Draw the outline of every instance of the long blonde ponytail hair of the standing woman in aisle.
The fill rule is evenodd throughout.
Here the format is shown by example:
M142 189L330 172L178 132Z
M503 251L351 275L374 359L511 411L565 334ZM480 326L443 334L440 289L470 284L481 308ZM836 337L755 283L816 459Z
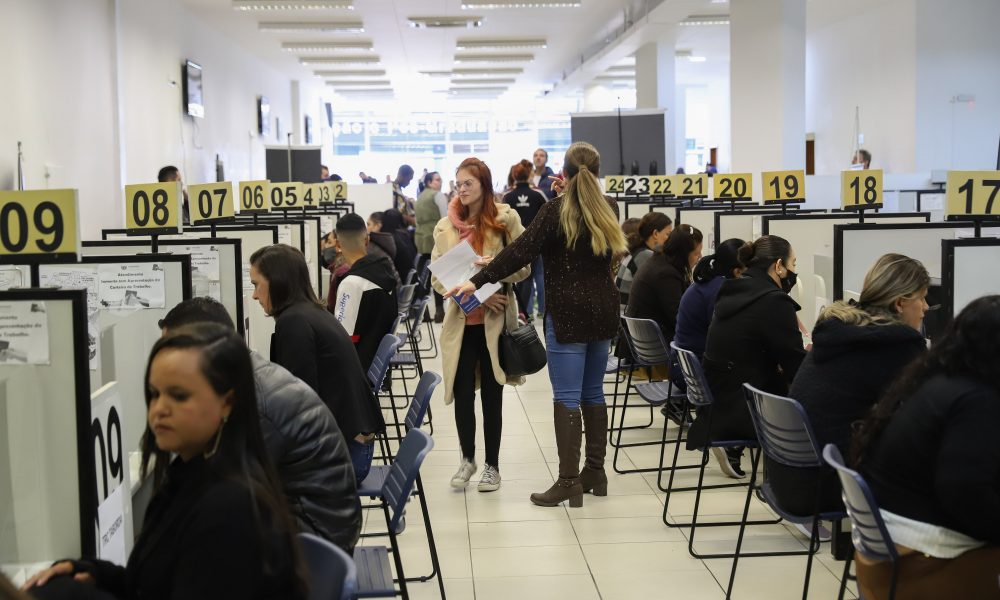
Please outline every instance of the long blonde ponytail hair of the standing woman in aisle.
M601 155L597 149L587 142L574 142L566 150L563 164L569 182L559 211L559 226L566 236L566 248L576 246L582 222L590 232L594 256L626 252L625 236L597 180L601 170Z

